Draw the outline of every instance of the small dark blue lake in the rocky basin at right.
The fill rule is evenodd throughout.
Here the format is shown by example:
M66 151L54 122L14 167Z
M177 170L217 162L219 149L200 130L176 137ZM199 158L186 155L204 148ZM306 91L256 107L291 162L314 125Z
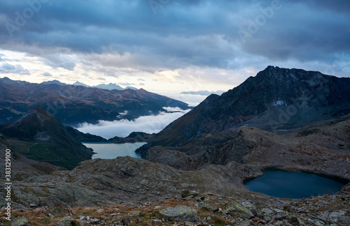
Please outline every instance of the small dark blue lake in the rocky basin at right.
M309 172L287 172L281 169L265 169L264 176L248 180L244 185L251 191L265 195L301 199L334 194L345 183Z

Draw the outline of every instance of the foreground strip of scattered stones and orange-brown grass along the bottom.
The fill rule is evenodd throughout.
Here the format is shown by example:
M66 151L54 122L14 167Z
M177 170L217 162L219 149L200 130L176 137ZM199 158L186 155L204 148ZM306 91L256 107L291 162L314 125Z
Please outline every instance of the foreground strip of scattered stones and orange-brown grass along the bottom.
M271 201L183 190L179 197L139 204L31 204L13 211L12 225L350 225L350 184L335 195ZM1 223L10 225L1 216Z

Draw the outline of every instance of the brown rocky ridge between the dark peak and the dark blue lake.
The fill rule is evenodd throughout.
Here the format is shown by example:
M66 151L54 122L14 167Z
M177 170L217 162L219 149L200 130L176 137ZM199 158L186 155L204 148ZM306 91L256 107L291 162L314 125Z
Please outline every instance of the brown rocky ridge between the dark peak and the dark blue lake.
M251 127L224 130L202 135L180 148L155 146L146 159L187 170L235 161L260 168L297 168L350 179L350 114L308 124L288 135Z

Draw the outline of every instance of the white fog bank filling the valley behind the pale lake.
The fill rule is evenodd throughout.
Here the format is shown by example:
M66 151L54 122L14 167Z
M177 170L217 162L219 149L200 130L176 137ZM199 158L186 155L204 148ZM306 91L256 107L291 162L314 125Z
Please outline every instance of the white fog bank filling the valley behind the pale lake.
M178 111L177 108L165 107L168 111ZM158 133L172 121L179 119L190 110L181 110L180 112L160 112L158 115L141 116L134 121L123 119L120 121L103 121L97 124L82 123L78 126L80 132L99 135L106 139L112 137L127 137L132 132Z

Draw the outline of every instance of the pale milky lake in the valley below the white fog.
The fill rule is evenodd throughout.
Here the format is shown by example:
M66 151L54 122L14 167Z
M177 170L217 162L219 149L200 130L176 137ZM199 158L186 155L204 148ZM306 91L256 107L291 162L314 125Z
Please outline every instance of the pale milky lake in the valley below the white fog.
M127 143L127 144L113 144L113 143L92 143L84 142L85 146L91 148L96 152L92 156L94 158L111 159L117 158L119 156L130 156L134 158L141 158L139 153L135 153L135 150L140 146L146 144L144 142L139 143Z

